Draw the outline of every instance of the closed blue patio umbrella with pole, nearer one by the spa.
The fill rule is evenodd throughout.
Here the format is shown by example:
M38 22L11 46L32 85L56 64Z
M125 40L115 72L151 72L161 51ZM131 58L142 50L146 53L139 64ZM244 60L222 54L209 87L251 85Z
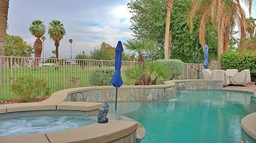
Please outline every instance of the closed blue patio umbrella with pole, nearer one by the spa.
M122 64L122 51L124 51L122 42L118 41L116 46L116 52L115 52L115 73L112 79L110 80L110 83L116 87L116 102L117 102L117 88L121 87L123 84L123 80L121 77L121 64ZM116 110L116 106L115 106Z

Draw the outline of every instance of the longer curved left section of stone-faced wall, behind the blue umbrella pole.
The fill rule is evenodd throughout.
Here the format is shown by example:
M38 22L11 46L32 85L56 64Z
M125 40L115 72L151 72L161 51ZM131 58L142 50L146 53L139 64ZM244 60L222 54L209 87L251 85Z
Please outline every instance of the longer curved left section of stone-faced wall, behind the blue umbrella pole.
M152 101L174 97L174 88L118 88L118 101ZM96 89L77 92L67 97L66 101L110 102L116 100L116 89Z

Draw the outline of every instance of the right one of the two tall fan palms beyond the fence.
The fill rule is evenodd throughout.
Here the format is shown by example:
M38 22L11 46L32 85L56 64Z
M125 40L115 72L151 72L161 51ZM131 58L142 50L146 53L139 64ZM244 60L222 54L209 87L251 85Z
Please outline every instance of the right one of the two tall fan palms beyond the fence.
M48 34L50 35L50 39L54 41L54 45L56 47L56 58L59 58L59 45L60 40L63 39L64 35L66 35L66 30L64 29L64 25L58 20L52 20L48 26ZM58 59L56 65L58 66Z

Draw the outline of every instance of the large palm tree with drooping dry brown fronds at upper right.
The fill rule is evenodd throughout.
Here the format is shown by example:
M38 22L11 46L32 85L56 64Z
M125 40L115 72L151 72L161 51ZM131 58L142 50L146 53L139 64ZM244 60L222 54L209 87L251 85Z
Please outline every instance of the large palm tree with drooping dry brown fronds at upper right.
M252 0L244 1L249 6L249 13L251 13ZM229 43L229 38L225 39L230 30L232 22L237 22L240 26L240 35L241 39L245 38L245 13L242 7L240 6L240 1L224 1L224 0L192 0L191 9L188 12L188 26L190 32L193 31L193 19L196 16L196 12L200 11L200 31L199 31L199 40L200 44L204 45L205 42L205 32L206 32L206 23L208 19L211 20L212 24L215 27L218 27L218 69L221 67L220 55L223 53L227 43ZM225 37L224 37L225 36ZM225 43L225 47L223 46ZM226 50L227 48L225 48Z

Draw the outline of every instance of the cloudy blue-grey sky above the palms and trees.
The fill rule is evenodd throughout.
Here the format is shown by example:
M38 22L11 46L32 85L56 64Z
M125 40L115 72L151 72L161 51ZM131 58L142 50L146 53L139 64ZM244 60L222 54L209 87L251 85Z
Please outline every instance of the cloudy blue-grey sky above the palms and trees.
M36 38L28 28L33 20L41 20L46 26L44 57L52 57L54 41L48 35L52 20L64 24L66 35L60 41L59 57L70 58L69 39L73 39L72 58L78 53L88 53L106 42L116 47L119 40L132 38L132 25L127 3L130 0L10 0L8 10L9 35L19 35L28 44L34 45ZM248 8L241 2L249 17ZM256 2L252 4L252 17L256 18ZM237 35L238 37L238 35ZM34 55L33 55L34 56ZM43 57L43 52L41 57Z

